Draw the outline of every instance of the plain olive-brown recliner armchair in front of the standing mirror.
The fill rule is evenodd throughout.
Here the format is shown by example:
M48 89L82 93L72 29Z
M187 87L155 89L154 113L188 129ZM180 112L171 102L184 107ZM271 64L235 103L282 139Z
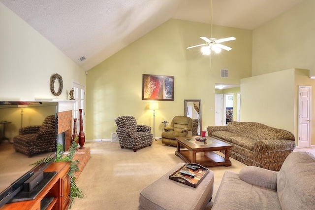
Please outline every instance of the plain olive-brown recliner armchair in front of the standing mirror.
M169 126L164 127L162 143L176 146L176 137L191 137L192 119L186 116L176 116Z

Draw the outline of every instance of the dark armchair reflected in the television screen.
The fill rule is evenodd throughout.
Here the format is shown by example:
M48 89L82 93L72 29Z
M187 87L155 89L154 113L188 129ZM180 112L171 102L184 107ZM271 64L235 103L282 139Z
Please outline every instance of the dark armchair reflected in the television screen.
M56 150L56 116L46 117L41 126L20 128L13 138L15 151L32 157L33 154Z

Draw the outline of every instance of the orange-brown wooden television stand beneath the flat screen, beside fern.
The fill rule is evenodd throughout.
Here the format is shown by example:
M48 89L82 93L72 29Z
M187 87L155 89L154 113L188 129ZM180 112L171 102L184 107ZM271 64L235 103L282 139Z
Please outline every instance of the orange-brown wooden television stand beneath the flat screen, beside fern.
M47 175L53 175L53 177L51 177L50 181L46 184L43 183L43 187L39 187L41 188L41 191L34 197L34 199L7 203L1 207L0 210L40 210L41 205L42 207L46 206L45 204L47 203L47 198L50 199L46 210L66 210L70 204L70 177L67 174L69 170L69 162L51 163L44 172L48 172ZM37 188L37 186L35 188ZM22 191L17 195L20 193L32 194L32 191Z

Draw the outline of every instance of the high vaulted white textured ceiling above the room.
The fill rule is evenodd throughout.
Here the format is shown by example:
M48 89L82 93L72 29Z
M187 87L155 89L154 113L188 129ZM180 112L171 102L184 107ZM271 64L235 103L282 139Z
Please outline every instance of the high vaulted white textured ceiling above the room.
M256 27L303 0L213 0L213 24ZM0 0L90 70L171 18L209 23L211 0ZM85 57L83 62L79 58Z

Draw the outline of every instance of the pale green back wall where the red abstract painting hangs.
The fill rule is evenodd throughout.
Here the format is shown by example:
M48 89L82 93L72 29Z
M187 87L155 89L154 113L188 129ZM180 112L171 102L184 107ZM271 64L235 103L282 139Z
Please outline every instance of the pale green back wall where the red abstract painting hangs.
M211 60L201 55L200 48L186 49L203 43L200 36L209 35L208 24L171 19L89 70L87 139L110 139L117 129L115 119L123 115L153 126L150 102L142 100L142 74L175 76L174 101L158 102L155 136L160 136L161 121L184 115L185 99L201 99L202 125L214 125L215 83L240 84L241 78L251 76L252 32L213 26L214 37L235 36L236 40L225 43L231 51L222 50ZM229 69L228 78L221 78L221 69Z

